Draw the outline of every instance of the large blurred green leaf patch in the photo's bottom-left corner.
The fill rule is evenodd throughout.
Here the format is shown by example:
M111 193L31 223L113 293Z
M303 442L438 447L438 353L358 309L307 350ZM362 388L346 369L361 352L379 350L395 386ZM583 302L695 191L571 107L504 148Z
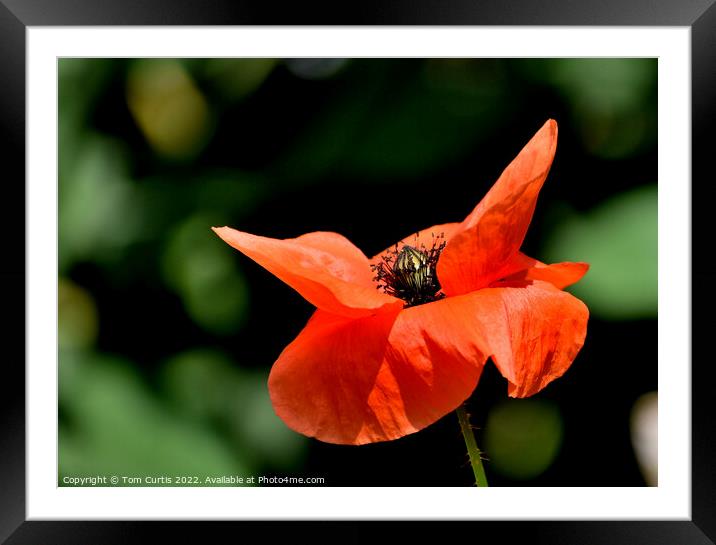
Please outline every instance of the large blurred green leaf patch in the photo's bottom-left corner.
M155 399L122 359L61 352L60 482L65 475L246 475L240 451Z

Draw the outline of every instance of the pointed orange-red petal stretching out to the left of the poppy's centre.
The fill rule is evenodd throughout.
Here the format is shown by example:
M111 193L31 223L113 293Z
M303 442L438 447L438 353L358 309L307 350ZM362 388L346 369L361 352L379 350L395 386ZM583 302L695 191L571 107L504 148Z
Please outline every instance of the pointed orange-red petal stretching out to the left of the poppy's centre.
M337 233L316 232L281 240L230 227L213 229L224 242L318 308L341 316L360 317L397 311L403 306L400 299L376 289L368 258Z

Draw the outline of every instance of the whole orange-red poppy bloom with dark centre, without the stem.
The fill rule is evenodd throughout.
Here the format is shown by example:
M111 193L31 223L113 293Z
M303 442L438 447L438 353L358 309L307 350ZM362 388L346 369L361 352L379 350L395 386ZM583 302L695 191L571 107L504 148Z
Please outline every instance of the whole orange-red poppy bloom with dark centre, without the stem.
M372 259L336 233L278 240L214 228L317 307L268 380L289 427L330 443L396 439L456 409L488 357L512 397L569 368L589 313L562 288L588 265L519 251L556 145L549 120L462 223Z

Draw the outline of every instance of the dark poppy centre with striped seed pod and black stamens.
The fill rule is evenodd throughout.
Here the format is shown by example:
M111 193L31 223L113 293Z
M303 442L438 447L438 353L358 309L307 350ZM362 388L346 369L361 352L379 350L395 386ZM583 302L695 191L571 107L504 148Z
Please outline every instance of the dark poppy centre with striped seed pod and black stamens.
M377 288L402 299L406 307L442 299L445 294L439 293L440 282L435 269L445 244L443 233L433 235L433 244L429 249L424 244L417 244L417 235L415 246L403 244L398 250L396 244L395 249L380 257L380 263L371 265L376 273L373 280L378 283Z

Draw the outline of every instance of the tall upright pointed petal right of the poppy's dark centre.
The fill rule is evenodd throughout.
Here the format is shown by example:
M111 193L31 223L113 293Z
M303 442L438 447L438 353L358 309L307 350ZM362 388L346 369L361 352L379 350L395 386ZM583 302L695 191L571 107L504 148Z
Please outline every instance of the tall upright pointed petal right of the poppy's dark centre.
M557 123L550 119L462 222L437 266L447 295L469 293L504 276L525 238L556 147Z

